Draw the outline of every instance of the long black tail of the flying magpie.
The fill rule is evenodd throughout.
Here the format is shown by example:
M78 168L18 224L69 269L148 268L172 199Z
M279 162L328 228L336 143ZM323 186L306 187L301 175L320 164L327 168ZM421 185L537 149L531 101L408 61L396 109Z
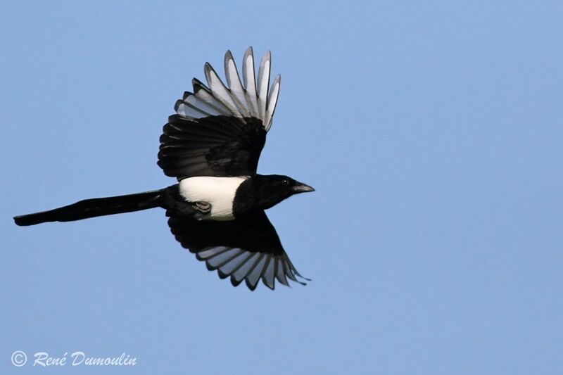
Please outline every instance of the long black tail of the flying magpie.
M18 225L34 225L42 222L72 222L89 217L147 210L160 206L159 198L164 190L146 191L127 196L86 199L50 211L16 216L13 220Z

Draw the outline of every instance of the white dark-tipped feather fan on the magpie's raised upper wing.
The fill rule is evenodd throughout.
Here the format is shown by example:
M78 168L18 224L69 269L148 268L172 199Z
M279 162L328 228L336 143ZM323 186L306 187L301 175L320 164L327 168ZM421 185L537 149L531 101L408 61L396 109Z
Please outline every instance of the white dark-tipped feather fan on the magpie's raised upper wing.
M281 76L274 78L270 87L272 57L267 51L260 61L258 76L254 72L254 55L248 47L243 58L242 82L231 51L224 55L224 71L227 86L209 63L205 63L205 79L208 86L192 80L194 93L186 91L184 98L176 102L175 110L182 117L202 118L216 115L255 117L262 121L266 131L272 126L272 116L279 96Z

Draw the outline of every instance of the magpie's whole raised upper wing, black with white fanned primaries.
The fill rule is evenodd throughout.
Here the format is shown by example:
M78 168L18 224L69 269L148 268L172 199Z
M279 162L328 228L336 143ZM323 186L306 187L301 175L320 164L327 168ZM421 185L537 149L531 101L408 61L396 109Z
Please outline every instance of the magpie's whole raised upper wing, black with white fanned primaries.
M192 81L194 93L176 102L160 136L158 165L167 176L239 176L256 173L266 133L279 94L279 75L270 85L270 52L260 62L255 79L249 48L243 59L243 83L230 51L224 56L228 87L205 63L208 87Z

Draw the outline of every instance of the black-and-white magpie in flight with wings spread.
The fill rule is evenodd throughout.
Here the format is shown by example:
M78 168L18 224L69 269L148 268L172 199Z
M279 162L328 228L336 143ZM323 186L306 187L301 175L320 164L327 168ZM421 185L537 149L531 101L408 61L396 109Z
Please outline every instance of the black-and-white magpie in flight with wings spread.
M224 56L225 85L209 63L207 85L194 78L175 104L160 136L158 165L177 184L125 196L92 198L54 210L14 217L21 226L69 222L123 212L163 208L170 231L182 247L233 286L253 291L260 279L305 285L289 260L265 210L298 193L315 191L290 177L256 172L272 126L280 75L270 86L267 51L255 75L252 47L241 76L232 53ZM305 280L305 281L304 281Z

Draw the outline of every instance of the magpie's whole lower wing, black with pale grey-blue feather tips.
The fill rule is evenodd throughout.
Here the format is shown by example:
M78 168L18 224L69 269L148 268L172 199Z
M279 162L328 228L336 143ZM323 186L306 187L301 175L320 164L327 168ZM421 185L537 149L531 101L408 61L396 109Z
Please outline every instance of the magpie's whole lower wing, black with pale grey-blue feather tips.
M305 285L264 211L225 222L172 216L168 225L184 248L210 271L217 269L221 279L230 276L234 286L244 280L253 291L262 279L274 289L275 279L288 286L287 278Z

